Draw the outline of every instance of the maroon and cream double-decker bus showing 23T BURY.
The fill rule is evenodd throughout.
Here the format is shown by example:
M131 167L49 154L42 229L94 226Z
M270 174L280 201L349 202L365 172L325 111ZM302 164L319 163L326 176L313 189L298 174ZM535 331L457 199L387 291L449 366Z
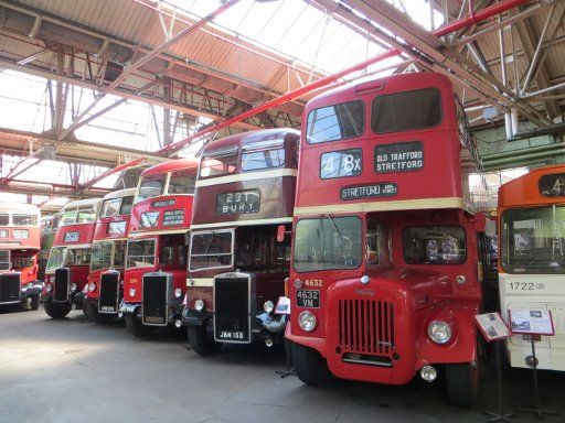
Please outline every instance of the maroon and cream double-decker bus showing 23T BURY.
M282 340L275 314L290 262L298 141L292 129L241 133L205 147L191 225L189 343L207 355L222 343L270 347Z

